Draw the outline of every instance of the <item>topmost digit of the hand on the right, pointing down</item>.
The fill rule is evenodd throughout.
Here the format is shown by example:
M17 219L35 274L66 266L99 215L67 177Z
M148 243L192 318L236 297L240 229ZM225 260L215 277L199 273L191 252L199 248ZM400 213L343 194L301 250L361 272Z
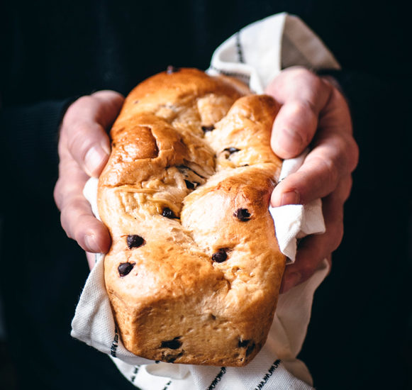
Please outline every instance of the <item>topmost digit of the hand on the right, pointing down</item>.
M318 116L333 87L307 69L288 69L269 84L267 93L283 104L272 128L271 145L282 158L296 157L311 143Z

